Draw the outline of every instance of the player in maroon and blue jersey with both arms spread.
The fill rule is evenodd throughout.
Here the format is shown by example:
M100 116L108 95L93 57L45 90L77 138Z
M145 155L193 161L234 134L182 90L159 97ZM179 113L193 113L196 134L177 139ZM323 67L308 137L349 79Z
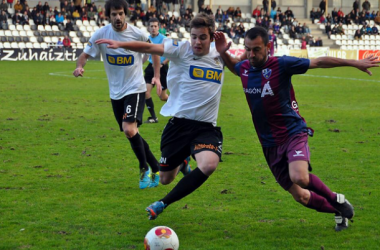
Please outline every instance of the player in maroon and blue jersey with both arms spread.
M336 231L346 229L348 220L354 216L353 206L343 194L332 192L316 175L309 173L310 130L292 106L295 99L291 77L304 74L308 69L342 66L355 67L372 75L368 68L379 66L377 58L269 57L268 33L255 27L244 38L248 59L239 61L226 53L230 44L226 43L223 34L216 33L215 38L216 49L227 67L241 78L264 156L277 182L302 205L335 214Z

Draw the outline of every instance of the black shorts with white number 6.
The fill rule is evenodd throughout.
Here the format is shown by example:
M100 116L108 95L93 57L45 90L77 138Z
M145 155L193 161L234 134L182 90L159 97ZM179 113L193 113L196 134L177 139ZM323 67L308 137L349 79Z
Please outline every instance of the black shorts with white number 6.
M119 124L120 131L123 131L123 122L137 122L137 126L142 123L145 106L145 92L130 94L120 100L111 99L113 114Z

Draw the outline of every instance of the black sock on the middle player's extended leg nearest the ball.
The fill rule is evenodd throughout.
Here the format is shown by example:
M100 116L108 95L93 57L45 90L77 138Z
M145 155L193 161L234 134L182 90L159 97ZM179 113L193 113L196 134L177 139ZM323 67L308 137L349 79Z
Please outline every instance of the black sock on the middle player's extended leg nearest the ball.
M190 174L183 177L177 185L173 188L170 193L168 193L162 201L165 206L169 206L173 202L176 202L183 197L191 194L194 192L197 188L199 188L206 180L208 179L208 176L202 173L202 171L199 168L196 168L194 171L192 171Z

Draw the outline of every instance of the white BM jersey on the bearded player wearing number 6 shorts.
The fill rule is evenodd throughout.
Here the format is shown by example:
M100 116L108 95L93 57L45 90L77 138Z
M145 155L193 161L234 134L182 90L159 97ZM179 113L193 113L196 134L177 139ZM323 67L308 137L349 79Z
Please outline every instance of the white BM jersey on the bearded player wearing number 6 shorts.
M107 44L96 44L101 38L116 41L149 41L149 38L140 29L128 24L121 32L113 30L112 25L98 29L90 38L84 53L96 57L101 53L104 68L107 73L110 97L120 100L126 95L146 91L146 84L142 68L142 54L123 48L110 49Z

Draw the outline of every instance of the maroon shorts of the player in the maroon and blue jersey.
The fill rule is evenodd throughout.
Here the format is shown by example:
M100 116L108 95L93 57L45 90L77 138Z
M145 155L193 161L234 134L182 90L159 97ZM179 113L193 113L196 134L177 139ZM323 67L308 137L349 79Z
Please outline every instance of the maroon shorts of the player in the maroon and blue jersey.
M281 146L263 148L265 159L272 174L285 190L289 190L293 185L289 176L289 163L300 160L310 161L307 138L307 133L301 133L290 137Z

